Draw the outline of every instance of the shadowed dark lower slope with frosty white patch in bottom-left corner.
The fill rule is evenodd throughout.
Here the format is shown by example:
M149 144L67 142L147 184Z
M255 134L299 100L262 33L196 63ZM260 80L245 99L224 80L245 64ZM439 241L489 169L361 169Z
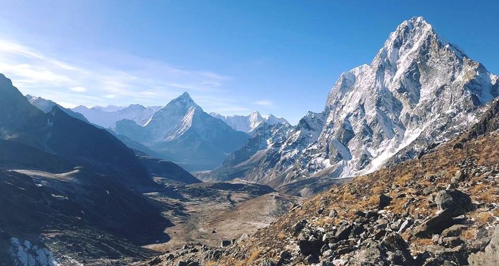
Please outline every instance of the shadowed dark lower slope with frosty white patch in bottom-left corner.
M83 167L0 170L0 204L0 265L124 265L169 239L145 197Z

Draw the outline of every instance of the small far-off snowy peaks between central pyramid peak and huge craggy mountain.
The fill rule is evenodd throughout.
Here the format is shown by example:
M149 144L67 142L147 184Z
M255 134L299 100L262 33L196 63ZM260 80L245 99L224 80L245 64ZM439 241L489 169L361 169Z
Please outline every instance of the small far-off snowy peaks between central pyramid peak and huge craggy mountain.
M210 115L224 121L225 123L227 123L227 125L231 126L231 128L246 133L251 133L260 125L262 125L262 123L268 124L270 126L277 123L289 125L289 123L284 118L278 118L272 114L261 116L258 111L254 111L248 116L222 116L218 113L210 113Z

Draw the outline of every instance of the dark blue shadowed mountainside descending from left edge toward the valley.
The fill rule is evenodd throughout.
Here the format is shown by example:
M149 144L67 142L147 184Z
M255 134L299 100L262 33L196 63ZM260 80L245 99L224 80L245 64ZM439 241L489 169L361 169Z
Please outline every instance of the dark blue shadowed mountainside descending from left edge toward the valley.
M0 76L0 138L55 154L102 174L120 176L125 186L153 185L135 153L112 134L68 116L54 106L44 114Z

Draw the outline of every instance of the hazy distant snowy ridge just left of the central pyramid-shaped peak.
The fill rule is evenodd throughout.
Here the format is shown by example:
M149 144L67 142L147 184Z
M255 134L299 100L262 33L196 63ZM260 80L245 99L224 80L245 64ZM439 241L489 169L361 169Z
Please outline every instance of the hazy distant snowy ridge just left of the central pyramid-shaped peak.
M93 124L104 128L114 128L116 122L122 119L133 120L138 125L143 126L159 109L161 109L161 106L144 107L132 104L127 107L109 105L87 108L85 106L77 106L71 110L82 114Z

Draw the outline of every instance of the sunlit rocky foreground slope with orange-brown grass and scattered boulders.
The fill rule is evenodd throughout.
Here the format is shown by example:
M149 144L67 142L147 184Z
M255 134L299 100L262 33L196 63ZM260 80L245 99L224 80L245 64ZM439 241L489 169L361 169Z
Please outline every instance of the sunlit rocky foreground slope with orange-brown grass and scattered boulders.
M138 265L497 265L499 103L468 133L319 194L253 236Z

